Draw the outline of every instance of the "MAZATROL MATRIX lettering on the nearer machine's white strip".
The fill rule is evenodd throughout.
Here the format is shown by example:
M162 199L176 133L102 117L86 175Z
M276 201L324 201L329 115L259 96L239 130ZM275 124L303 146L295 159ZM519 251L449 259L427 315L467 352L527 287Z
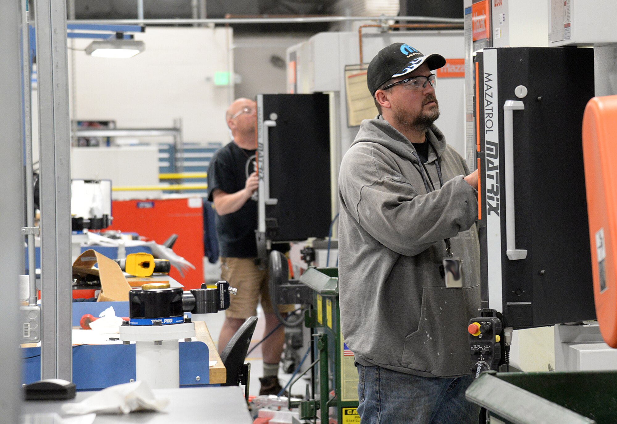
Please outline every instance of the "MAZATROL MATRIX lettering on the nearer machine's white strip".
M495 125L492 73L484 73L484 139L486 149L486 214L499 215L499 143Z

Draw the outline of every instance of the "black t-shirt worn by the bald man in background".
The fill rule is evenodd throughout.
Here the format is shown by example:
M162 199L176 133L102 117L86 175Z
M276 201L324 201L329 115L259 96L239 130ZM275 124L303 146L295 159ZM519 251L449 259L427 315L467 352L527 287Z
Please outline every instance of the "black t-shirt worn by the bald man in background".
M239 148L233 141L218 149L208 167L208 200L213 201L212 192L217 188L228 194L243 189L254 171L254 150ZM236 212L217 214L216 226L221 256L257 256L257 202L249 199Z

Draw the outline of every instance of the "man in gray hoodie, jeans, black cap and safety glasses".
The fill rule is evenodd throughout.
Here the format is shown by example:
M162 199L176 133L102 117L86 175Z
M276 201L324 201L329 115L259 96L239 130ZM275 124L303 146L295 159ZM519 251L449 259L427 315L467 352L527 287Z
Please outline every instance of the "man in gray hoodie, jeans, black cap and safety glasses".
M362 423L477 423L465 400L467 323L478 315L478 173L445 143L439 54L395 43L368 67L379 115L339 174L342 333L354 352ZM460 258L462 287L444 259ZM455 260L456 261L456 260Z

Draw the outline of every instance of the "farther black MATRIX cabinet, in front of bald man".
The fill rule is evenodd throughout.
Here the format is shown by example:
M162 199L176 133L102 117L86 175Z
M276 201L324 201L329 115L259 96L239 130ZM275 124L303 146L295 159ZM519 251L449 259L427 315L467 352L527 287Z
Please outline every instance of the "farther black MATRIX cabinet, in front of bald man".
M328 94L260 94L258 109L259 136L261 140L263 132L268 133L270 164L262 170L263 151L259 150L260 178L268 174L270 198L276 199L276 204L265 206L267 238L327 237L331 221ZM276 125L268 127L263 120Z

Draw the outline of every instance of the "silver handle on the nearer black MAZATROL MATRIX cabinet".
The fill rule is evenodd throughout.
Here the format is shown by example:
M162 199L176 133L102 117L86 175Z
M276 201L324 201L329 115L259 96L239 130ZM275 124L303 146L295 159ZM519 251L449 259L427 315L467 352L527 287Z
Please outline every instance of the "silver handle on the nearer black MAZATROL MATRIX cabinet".
M514 123L513 110L523 110L525 105L520 100L507 100L503 104L503 159L505 163L505 245L506 255L510 260L525 259L526 249L516 249L514 223Z

